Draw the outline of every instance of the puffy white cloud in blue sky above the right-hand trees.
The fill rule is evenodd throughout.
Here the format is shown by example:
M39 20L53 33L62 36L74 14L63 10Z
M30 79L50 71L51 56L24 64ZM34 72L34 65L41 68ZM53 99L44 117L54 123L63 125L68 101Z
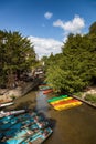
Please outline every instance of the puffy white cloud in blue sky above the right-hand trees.
M75 16L71 21L62 21L58 19L57 21L53 22L54 27L60 27L64 30L64 33L81 33L82 29L85 27L85 21L79 16Z

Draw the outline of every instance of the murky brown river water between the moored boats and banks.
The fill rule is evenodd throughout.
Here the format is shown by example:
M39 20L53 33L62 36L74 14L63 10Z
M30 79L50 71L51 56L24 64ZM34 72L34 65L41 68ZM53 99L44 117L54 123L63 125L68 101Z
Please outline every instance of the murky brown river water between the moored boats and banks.
M96 144L96 109L83 103L58 112L47 103L47 99L52 96L55 95L32 91L19 99L19 102L23 100L25 104L28 101L30 106L34 97L35 109L51 120L53 134L44 144Z

